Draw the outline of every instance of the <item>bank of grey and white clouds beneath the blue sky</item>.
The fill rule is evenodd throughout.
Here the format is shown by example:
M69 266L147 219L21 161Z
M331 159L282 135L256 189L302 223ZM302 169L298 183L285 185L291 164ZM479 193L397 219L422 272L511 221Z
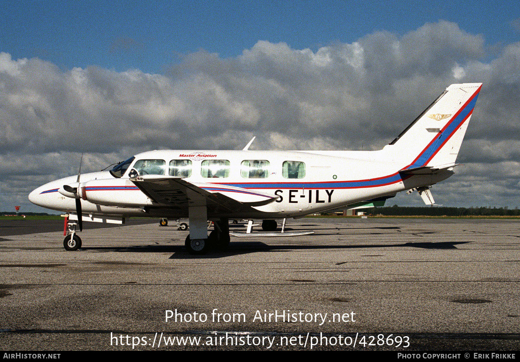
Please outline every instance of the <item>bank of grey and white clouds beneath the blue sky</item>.
M36 185L74 174L82 152L93 171L145 150L240 149L253 136L252 149L380 149L451 83L483 82L467 164L436 198L517 206L520 43L489 58L481 35L447 21L316 51L267 41L226 59L201 50L164 74L61 70L2 52L0 201L28 204Z

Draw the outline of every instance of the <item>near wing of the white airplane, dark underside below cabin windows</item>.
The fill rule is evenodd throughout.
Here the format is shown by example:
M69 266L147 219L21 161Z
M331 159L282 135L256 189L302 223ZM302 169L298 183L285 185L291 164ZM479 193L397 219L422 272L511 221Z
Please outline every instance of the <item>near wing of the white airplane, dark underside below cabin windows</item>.
M158 206L186 208L207 205L209 211L239 211L275 202L279 196L242 187L213 183L191 183L180 177L143 175L130 179Z

